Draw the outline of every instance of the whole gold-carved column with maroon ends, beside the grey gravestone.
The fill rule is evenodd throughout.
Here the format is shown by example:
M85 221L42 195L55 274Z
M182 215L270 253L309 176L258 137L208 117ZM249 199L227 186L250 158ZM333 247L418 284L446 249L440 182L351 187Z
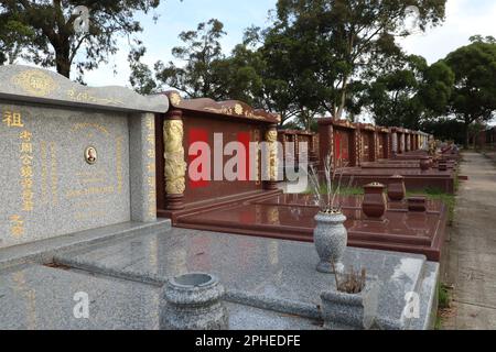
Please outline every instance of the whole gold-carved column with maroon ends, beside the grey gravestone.
M170 111L163 123L163 143L165 158L165 209L184 209L184 190L186 189L186 163L184 162L183 112Z

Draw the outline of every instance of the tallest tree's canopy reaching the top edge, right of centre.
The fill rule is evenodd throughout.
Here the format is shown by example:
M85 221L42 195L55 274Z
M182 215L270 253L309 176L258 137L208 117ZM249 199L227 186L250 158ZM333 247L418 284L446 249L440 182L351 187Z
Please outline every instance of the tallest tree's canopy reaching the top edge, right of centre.
M299 66L293 74L301 88L311 82L310 100L341 118L354 80L401 54L395 37L410 34L411 7L420 9L419 31L444 19L445 0L279 0L269 37L284 43L280 51Z

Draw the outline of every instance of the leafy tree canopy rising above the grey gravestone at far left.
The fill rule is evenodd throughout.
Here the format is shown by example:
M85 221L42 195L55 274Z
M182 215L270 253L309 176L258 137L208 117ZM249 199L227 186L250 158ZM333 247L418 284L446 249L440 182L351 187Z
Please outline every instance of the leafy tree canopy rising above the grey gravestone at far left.
M117 52L119 36L142 31L134 19L138 11L148 13L159 4L160 0L0 0L0 61L22 55L43 67L56 67L65 77L73 65L83 75ZM85 14L75 11L80 7L89 10L87 31L77 30L84 24ZM82 51L84 58L77 61Z

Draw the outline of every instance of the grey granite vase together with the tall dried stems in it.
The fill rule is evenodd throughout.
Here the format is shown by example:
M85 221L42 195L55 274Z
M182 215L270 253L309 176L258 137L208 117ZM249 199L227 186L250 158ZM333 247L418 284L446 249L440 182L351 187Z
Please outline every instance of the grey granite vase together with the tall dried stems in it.
M324 161L324 177L325 184L321 184L319 174L313 166L310 172L310 182L313 188L313 193L319 205L319 213L315 216L315 229L313 230L313 241L315 250L319 254L320 262L316 270L321 273L332 274L334 268L332 263L336 263L334 267L337 271L343 271L343 255L346 251L348 242L348 233L344 226L346 217L343 215L342 208L338 201L338 195L341 190L342 173L337 183L337 187L334 187L334 178L336 172L331 164L331 155L327 155ZM349 184L353 179L349 179ZM325 194L322 195L321 190L325 187Z

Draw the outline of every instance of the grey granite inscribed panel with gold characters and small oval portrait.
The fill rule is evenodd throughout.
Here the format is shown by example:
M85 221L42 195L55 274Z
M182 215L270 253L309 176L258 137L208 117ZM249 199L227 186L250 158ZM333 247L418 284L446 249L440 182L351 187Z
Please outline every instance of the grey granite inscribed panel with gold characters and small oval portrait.
M132 220L126 114L0 101L0 248Z

